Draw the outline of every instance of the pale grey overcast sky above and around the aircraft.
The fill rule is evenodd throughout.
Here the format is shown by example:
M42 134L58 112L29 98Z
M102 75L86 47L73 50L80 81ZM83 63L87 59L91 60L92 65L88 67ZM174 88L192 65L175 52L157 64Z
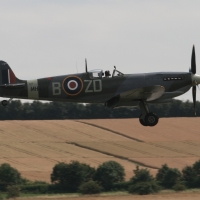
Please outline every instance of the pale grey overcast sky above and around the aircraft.
M200 73L200 1L1 0L0 60L20 79L82 73ZM192 101L189 91L178 99ZM197 90L200 101L200 90Z

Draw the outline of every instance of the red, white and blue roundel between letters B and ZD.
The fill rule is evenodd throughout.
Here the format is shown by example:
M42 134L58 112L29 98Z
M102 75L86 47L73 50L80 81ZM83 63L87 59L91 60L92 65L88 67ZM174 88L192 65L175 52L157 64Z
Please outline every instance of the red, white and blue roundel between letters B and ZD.
M68 76L63 80L63 90L71 96L79 94L83 89L83 82L77 76Z

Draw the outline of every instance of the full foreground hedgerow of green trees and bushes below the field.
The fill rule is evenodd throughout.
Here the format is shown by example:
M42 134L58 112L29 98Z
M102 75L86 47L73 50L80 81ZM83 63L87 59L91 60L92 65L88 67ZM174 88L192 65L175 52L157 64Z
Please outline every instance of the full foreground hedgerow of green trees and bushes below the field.
M53 167L50 178L51 184L32 182L22 178L15 168L4 163L0 166L0 191L7 192L8 198L17 197L20 192L98 194L105 191L128 191L131 194L146 195L163 189L183 191L200 188L200 160L181 171L164 164L155 177L148 169L137 166L128 181L125 181L124 167L116 161L104 162L97 168L79 161L60 162Z

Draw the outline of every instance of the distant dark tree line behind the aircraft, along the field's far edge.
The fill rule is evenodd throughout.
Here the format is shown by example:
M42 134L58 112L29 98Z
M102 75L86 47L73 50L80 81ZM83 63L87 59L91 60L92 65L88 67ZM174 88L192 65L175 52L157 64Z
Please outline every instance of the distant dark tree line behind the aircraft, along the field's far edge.
M150 111L159 117L193 117L193 103L173 100L166 104L150 104ZM200 102L196 103L197 116ZM103 119L103 118L138 118L139 108L106 108L103 104L80 104L67 102L33 101L22 103L11 101L7 106L0 106L0 120L42 120L42 119Z

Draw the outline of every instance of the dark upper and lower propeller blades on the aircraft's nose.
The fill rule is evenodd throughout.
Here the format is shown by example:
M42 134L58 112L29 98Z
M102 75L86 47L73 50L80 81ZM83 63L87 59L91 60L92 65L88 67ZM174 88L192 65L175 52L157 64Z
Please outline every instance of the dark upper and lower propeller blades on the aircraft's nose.
M192 48L192 58L191 58L191 70L193 75L196 74L196 58L195 58L195 48L193 45ZM194 106L194 114L196 115L196 81L194 80L192 86L192 98L193 98L193 106Z

